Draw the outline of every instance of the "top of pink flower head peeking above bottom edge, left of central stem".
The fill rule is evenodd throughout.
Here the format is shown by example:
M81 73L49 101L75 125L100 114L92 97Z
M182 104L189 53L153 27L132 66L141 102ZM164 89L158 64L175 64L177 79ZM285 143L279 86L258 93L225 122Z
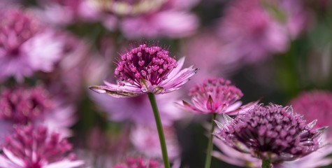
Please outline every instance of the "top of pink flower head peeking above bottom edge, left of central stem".
M115 165L115 168L163 168L157 160L144 158L127 158L126 162Z

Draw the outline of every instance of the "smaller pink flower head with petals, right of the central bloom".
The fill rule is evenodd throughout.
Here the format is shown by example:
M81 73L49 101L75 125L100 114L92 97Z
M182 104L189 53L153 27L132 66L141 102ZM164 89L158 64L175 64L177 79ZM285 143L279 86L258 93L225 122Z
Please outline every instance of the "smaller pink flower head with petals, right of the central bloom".
M228 113L240 106L243 96L238 87L223 78L210 78L189 92L192 104L182 101L180 106L196 113Z

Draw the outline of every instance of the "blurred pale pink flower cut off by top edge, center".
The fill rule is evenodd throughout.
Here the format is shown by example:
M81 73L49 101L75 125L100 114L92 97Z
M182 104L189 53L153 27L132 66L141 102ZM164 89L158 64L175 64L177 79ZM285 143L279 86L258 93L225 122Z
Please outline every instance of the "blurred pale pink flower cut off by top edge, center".
M106 28L119 27L131 39L181 38L194 34L199 27L198 18L189 11L196 0L86 1L99 11L99 20Z

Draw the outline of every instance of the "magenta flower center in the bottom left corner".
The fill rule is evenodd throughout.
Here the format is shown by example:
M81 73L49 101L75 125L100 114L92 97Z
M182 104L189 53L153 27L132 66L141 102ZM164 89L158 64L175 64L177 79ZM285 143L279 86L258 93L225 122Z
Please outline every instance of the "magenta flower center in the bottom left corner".
M61 139L59 134L49 134L47 128L42 126L15 127L13 136L6 137L3 148L22 160L25 167L31 168L74 157L68 141Z

